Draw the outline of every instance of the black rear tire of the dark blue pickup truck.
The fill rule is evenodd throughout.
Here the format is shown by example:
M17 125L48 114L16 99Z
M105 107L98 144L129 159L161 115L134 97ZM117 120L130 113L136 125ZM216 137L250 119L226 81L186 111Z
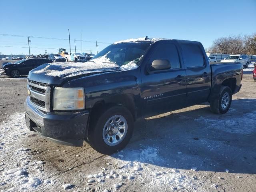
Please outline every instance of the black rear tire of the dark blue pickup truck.
M226 96L228 95L228 98ZM224 99L224 103L228 100L228 104L222 103L222 98ZM216 114L224 114L228 112L230 105L232 102L232 91L228 86L221 86L220 93L218 94L218 98L212 99L210 102L210 108L212 112ZM224 107L223 107L224 106Z

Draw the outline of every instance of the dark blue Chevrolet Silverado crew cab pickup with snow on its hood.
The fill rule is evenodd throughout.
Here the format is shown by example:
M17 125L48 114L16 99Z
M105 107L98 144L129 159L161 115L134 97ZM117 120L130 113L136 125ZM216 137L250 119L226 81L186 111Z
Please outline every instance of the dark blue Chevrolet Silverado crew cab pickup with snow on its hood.
M209 64L200 42L130 39L82 64L44 64L30 71L26 125L54 142L103 154L128 144L134 121L210 102L226 113L241 88L241 63Z

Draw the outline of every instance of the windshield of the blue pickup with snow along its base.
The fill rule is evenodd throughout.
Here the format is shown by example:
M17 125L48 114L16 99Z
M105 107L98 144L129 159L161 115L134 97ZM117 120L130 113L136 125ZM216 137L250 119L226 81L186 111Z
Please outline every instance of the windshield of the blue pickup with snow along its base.
M146 42L112 44L90 61L101 60L107 63L115 63L118 66L124 66L130 62L138 64L149 46L150 43Z

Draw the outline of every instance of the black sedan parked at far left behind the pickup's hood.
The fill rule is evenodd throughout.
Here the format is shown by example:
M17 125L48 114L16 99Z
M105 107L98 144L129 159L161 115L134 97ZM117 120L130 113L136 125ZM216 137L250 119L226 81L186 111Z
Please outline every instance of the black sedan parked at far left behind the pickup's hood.
M4 63L0 68L0 74L17 78L20 75L28 75L28 72L42 64L52 63L52 60L43 58L22 59L15 63Z

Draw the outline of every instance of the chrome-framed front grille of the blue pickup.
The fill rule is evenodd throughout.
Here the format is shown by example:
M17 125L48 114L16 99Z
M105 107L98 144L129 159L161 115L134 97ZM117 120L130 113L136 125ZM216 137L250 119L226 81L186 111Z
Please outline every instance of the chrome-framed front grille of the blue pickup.
M50 111L50 90L49 86L42 86L28 81L30 101L38 109Z

